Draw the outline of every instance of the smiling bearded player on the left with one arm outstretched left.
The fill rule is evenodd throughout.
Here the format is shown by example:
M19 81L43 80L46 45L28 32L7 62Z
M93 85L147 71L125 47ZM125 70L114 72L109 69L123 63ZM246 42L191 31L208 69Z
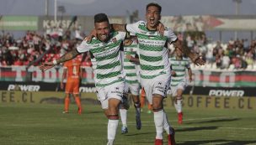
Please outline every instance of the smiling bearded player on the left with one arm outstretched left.
M93 63L97 96L101 102L104 114L108 117L108 145L115 140L119 122L119 105L123 100L125 90L125 75L123 74L122 55L120 45L125 39L125 32L111 31L109 18L104 13L94 16L94 27L97 38L91 42L83 40L77 49L61 56L58 60L45 62L40 65L41 70L48 70L53 66L72 60L78 54L90 51L96 62Z

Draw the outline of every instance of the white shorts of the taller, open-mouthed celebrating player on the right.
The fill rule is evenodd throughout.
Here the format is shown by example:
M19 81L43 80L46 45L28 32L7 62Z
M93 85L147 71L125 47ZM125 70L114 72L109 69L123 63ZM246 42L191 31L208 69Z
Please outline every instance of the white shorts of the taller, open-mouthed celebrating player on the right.
M152 105L152 95L158 94L163 97L167 96L168 87L170 85L171 75L163 74L158 75L153 79L142 79L141 86L144 87L146 92L147 101Z

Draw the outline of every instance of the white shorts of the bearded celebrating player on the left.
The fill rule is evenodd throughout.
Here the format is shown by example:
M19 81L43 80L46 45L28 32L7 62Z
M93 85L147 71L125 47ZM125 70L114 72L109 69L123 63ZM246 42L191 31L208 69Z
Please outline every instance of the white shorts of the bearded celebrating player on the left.
M101 103L102 109L109 108L109 99L115 98L122 101L122 96L125 91L125 82L117 82L112 85L107 85L104 87L96 87L96 93L98 100Z

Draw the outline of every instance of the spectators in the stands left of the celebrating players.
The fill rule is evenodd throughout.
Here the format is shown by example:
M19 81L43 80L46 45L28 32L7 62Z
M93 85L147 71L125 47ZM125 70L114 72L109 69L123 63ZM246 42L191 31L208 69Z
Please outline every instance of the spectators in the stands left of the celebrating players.
M40 62L61 57L83 41L84 35L77 32L77 29L66 32L61 27L49 29L46 29L45 34L27 31L20 39L13 39L12 34L2 32L0 34L0 66L36 66ZM83 65L91 65L87 54L83 55Z

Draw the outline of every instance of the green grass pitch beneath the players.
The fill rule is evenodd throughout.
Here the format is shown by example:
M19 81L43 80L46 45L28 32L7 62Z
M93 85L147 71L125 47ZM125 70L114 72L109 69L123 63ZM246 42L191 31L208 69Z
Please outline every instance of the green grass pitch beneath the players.
M1 145L104 145L107 122L100 106L77 106L62 114L63 105L0 104ZM144 109L145 110L145 109ZM176 129L179 145L242 145L256 144L256 112L242 110L184 109L184 124L176 122L174 108L166 107L169 121ZM115 145L150 145L155 127L152 114L141 112L142 128L136 130L135 110L128 111L126 135L120 134ZM164 143L167 144L166 138Z

